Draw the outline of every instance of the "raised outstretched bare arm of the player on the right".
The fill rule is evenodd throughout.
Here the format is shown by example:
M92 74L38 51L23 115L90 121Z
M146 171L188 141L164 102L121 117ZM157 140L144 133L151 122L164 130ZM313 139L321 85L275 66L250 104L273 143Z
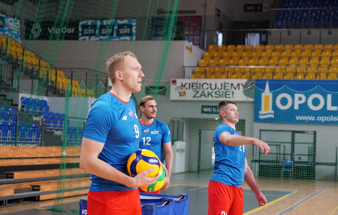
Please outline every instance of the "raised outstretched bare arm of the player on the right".
M270 147L266 142L263 142L257 138L253 137L245 137L240 135L231 135L229 132L223 132L219 136L219 141L225 145L230 146L240 146L240 145L248 145L255 144L255 146L259 147L262 153L269 153Z

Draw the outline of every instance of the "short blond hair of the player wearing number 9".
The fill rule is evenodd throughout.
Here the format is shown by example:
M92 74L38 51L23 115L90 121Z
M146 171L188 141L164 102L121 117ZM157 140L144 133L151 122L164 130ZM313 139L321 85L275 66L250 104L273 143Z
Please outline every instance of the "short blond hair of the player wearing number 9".
M112 83L115 82L115 72L120 71L123 68L124 56L131 56L136 58L136 55L131 51L119 52L110 59L107 60L107 72Z

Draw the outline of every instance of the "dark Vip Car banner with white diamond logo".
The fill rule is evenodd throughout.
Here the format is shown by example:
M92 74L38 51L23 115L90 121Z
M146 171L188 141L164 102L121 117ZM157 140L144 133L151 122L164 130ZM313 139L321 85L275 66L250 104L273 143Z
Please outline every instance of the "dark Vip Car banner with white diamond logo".
M77 40L79 22L26 22L26 40Z

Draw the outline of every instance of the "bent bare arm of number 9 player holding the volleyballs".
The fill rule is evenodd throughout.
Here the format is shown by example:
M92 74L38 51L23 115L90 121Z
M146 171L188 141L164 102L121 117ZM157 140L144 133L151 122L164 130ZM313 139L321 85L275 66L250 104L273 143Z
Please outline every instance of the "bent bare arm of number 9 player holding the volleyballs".
M80 168L82 170L92 173L98 177L124 184L127 187L150 185L155 183L159 178L159 176L153 178L147 177L147 174L153 171L152 168L138 174L134 178L115 169L110 164L98 158L103 146L104 143L84 137L82 138L80 154Z

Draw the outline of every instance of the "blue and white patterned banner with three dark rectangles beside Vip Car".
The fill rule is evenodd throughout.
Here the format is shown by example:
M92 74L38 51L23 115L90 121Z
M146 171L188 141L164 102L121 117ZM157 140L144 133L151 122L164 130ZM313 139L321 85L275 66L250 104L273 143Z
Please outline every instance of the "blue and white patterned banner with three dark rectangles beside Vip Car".
M135 40L136 20L84 20L79 40Z

